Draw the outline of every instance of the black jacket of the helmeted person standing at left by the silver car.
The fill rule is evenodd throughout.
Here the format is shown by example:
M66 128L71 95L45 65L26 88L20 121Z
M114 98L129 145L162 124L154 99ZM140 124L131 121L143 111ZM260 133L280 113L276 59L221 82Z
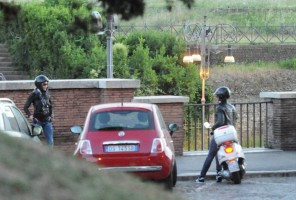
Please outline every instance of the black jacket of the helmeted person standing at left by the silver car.
M33 103L34 105L34 114L33 117L38 121L51 121L52 118L52 101L48 91L40 91L39 89L35 89L30 96L28 97L25 105L24 111L28 115L31 115L29 107Z

